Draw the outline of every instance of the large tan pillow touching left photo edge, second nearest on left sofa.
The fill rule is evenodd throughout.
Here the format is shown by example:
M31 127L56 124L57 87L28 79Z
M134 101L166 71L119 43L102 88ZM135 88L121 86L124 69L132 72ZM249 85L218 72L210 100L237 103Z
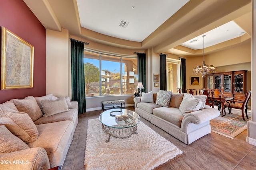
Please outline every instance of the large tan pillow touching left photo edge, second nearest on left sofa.
M38 138L36 125L27 113L1 106L0 124L25 143L34 142Z

